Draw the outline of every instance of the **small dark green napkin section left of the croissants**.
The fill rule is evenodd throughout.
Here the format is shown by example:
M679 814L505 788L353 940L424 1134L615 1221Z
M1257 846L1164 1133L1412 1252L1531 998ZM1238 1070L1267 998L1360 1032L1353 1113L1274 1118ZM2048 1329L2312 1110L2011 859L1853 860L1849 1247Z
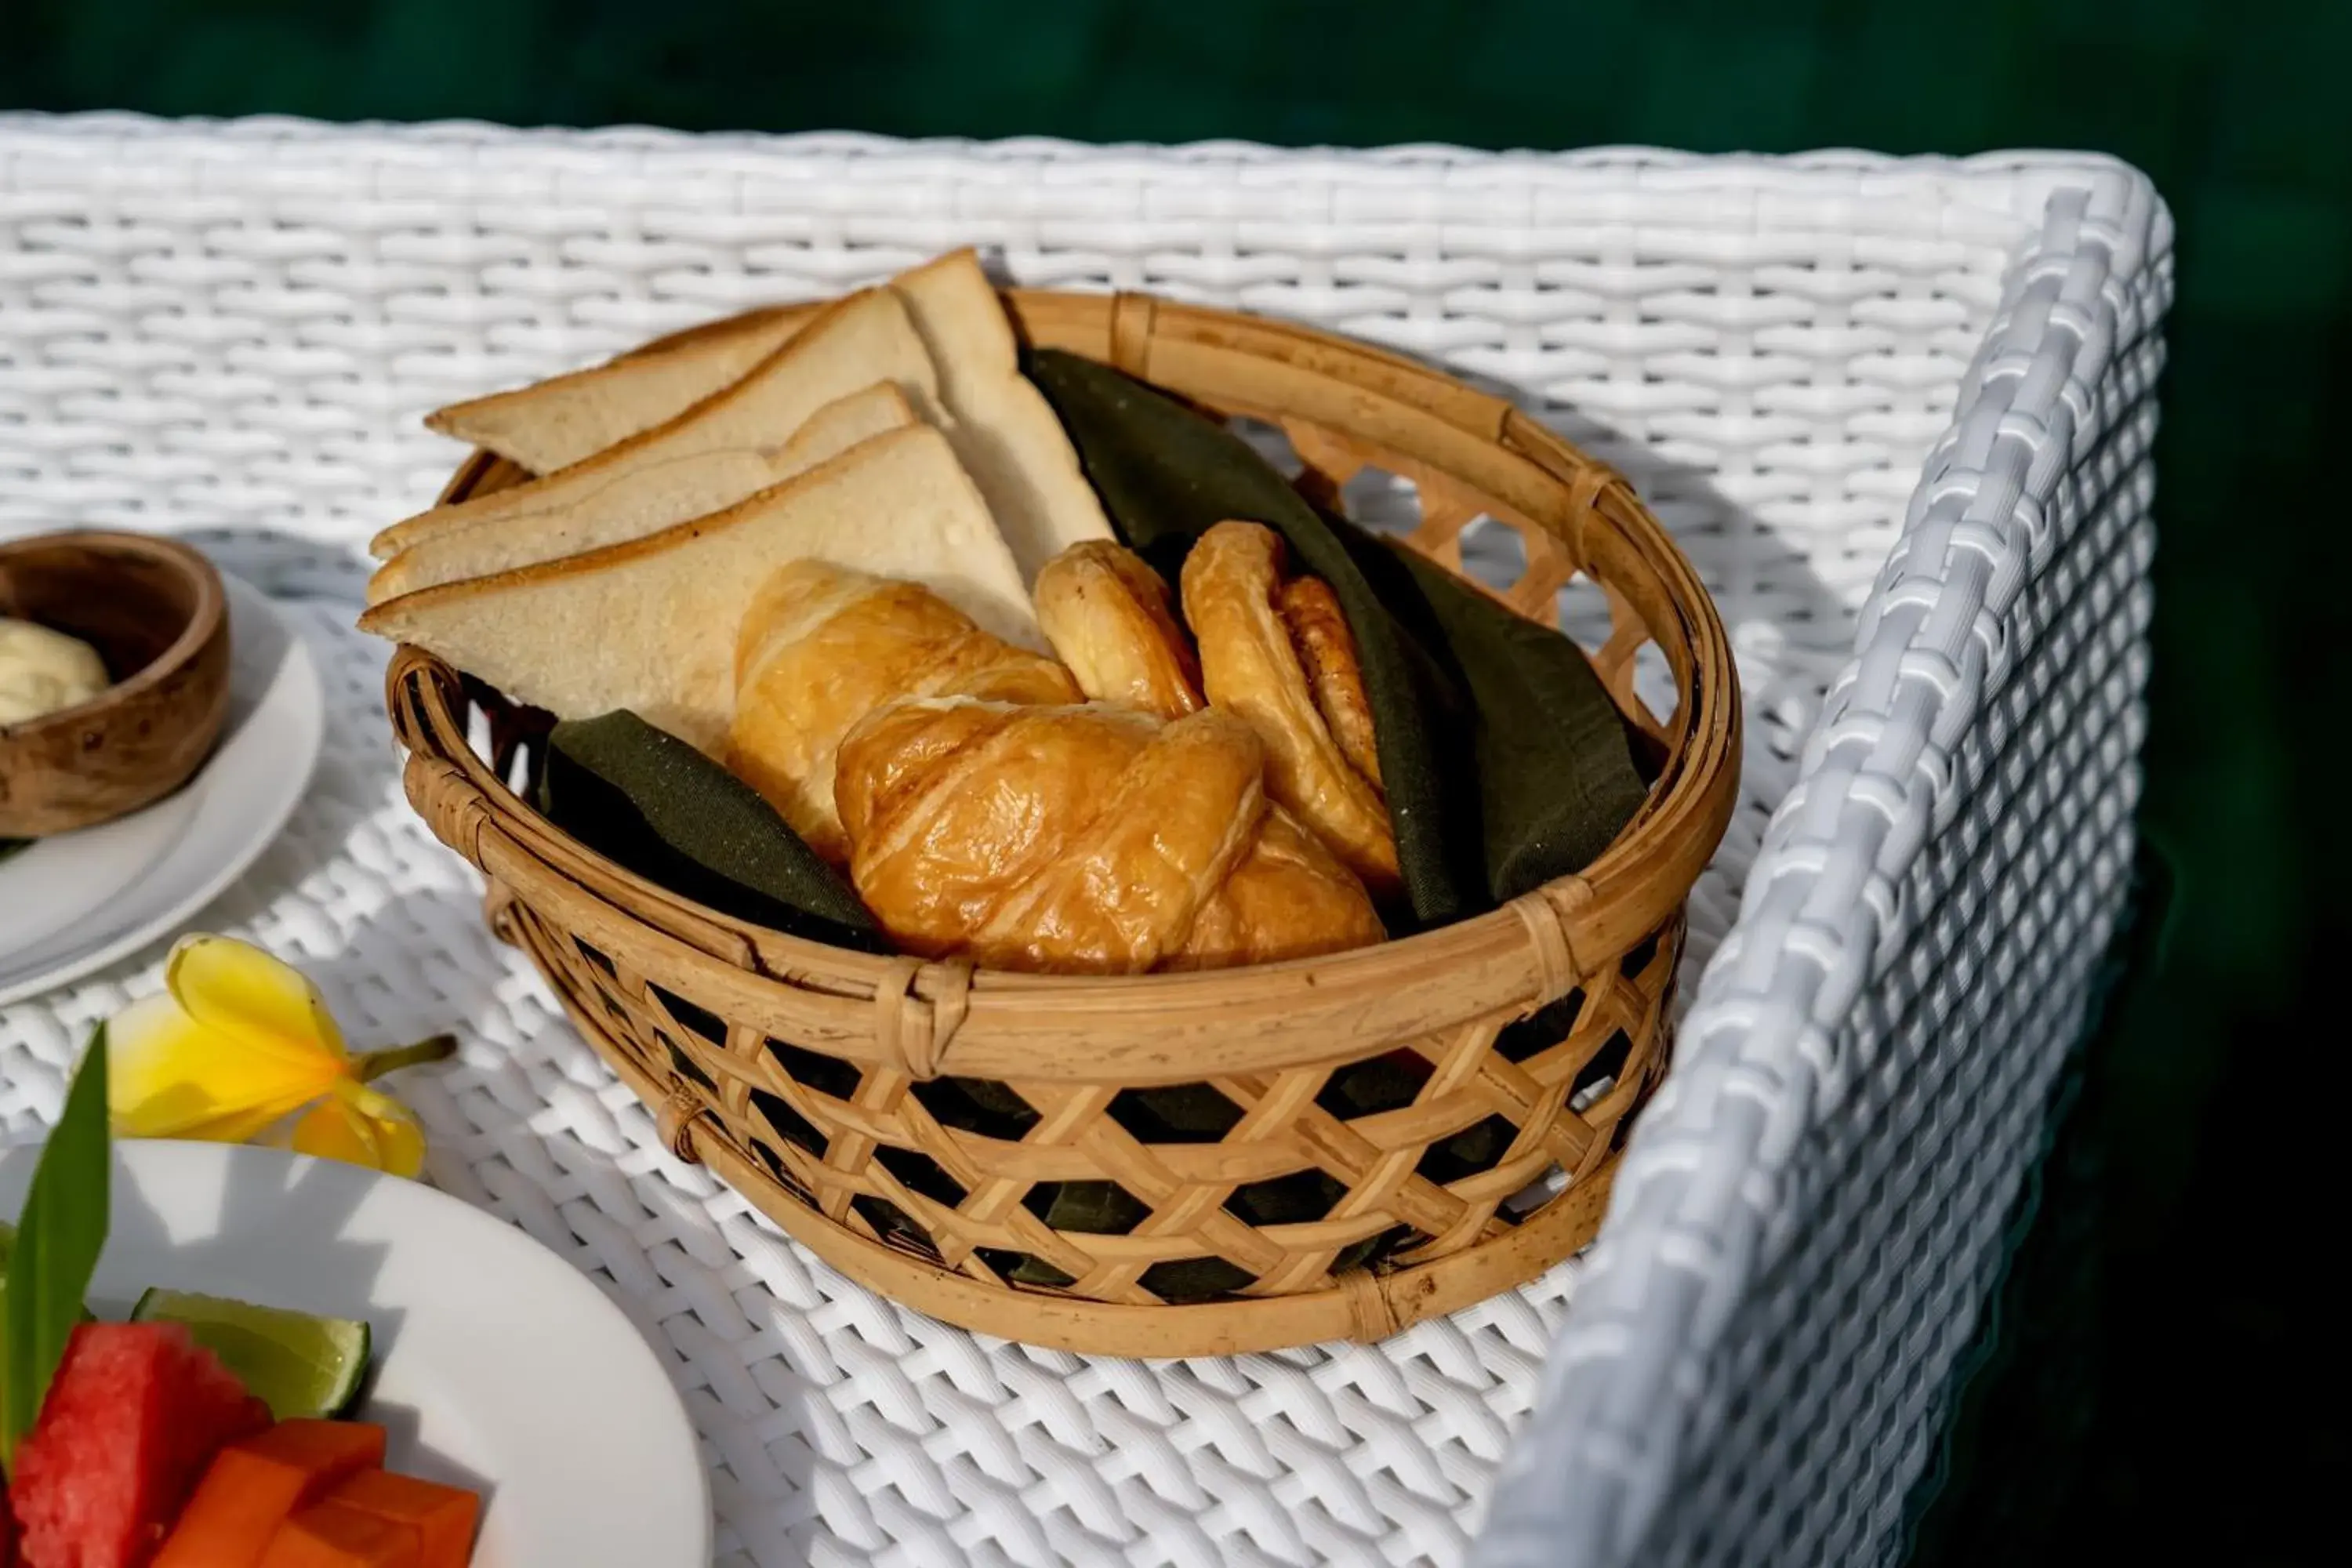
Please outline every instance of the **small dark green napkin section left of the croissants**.
M539 809L607 860L722 914L889 952L856 891L757 790L628 710L548 733Z

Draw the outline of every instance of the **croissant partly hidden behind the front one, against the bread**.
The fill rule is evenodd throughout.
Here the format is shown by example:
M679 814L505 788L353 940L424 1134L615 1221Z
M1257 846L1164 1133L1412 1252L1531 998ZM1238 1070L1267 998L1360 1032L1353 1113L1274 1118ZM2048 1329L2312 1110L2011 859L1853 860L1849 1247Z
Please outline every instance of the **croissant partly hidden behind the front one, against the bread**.
M833 806L840 741L898 696L1075 703L1070 672L983 632L922 583L818 559L781 567L736 628L727 769L828 860L849 858Z

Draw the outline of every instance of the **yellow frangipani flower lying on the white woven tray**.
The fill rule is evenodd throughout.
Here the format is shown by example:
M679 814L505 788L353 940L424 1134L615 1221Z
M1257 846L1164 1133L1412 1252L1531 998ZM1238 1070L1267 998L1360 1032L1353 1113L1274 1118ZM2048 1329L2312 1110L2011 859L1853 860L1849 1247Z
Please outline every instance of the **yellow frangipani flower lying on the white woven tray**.
M353 1056L318 987L228 936L186 936L165 990L106 1025L108 1103L122 1138L273 1143L303 1154L423 1171L416 1114L369 1081L449 1056L447 1034Z

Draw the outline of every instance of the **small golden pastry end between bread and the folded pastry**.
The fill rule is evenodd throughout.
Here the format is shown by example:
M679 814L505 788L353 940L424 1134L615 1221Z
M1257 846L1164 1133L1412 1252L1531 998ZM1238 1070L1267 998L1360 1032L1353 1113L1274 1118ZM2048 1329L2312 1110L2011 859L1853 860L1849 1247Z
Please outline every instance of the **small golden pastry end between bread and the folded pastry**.
M1162 719L1202 708L1192 639L1169 585L1134 550L1101 538L1070 545L1037 574L1035 599L1047 642L1096 703Z

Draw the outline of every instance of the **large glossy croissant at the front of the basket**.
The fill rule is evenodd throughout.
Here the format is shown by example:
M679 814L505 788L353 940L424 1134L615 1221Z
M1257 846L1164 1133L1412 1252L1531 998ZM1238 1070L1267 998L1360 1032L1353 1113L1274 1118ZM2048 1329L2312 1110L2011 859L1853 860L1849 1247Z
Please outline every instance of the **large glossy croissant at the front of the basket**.
M842 741L849 879L906 950L1141 973L1381 940L1364 886L1265 797L1265 748L1214 708L910 698Z

